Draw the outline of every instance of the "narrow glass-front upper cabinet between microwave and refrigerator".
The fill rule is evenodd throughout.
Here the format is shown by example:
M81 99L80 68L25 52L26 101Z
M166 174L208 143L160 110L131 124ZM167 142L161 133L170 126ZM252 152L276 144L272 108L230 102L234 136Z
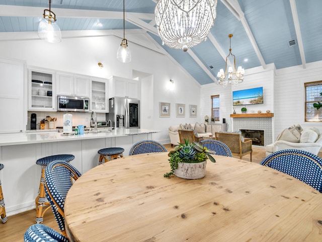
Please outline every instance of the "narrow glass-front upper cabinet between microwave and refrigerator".
M91 78L91 110L108 112L107 80Z

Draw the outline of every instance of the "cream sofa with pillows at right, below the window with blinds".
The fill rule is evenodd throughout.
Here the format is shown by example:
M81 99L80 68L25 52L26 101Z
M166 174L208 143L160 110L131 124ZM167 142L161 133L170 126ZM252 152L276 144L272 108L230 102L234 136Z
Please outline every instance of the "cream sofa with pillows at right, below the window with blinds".
M315 155L322 147L322 134L316 128L304 129L297 125L283 130L277 140L266 146L266 156L286 149L304 150Z

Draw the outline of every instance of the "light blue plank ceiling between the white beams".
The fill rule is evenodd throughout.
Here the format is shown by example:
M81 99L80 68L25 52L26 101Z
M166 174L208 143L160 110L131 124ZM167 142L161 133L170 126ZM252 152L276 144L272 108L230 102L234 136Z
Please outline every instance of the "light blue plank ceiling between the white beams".
M155 2L152 0L126 0L125 12L154 14ZM233 34L231 38L231 52L236 56L236 67L242 66L244 69L250 69L261 66L259 56L243 23L227 9L223 2L224 0L218 0L217 2L217 17L210 33L218 42L225 56L229 53L228 34ZM237 2L241 11L245 14L245 19L264 58L265 64L274 63L277 69L302 64L298 44L292 47L288 44L292 40L298 43L290 0L237 0ZM322 1L295 0L295 2L305 61L306 63L321 61L322 15L320 10L322 9ZM231 3L233 4L233 1ZM0 0L0 8L2 7L1 5L39 7L41 11L38 16L34 17L25 17L24 13L19 11L17 11L16 15L19 17L0 16L0 32L37 31L43 9L49 8L48 0ZM122 12L123 1L52 0L51 9L53 12L56 9ZM80 14L79 18L77 18L77 11L75 13L76 16L73 16L74 18L57 16L57 24L62 31L123 29L123 19L82 18L83 14ZM146 23L151 22L148 18L145 18L143 21ZM127 21L125 21L125 28L140 29L139 26ZM161 45L162 41L158 36L149 32L147 34L152 36ZM171 49L167 46L162 47L201 85L213 82L188 53ZM216 46L211 43L210 39L191 48L191 51L193 51L203 66L214 77L216 77L219 69L223 69L225 66L225 59L218 52ZM245 59L248 59L248 61L246 62ZM212 66L213 69L210 69L209 66Z

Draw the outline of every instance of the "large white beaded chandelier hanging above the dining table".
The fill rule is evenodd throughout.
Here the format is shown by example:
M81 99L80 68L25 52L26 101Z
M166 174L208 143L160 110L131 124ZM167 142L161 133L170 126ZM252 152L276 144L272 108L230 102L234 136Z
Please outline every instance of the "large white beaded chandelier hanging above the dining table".
M206 40L216 6L217 0L159 0L154 14L163 44L187 50Z

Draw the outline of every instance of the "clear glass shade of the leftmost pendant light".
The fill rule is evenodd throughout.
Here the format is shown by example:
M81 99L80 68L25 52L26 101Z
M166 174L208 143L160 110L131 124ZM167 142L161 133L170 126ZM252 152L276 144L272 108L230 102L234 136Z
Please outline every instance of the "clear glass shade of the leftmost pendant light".
M38 36L49 43L61 42L61 32L58 24L51 19L43 18L38 25Z

